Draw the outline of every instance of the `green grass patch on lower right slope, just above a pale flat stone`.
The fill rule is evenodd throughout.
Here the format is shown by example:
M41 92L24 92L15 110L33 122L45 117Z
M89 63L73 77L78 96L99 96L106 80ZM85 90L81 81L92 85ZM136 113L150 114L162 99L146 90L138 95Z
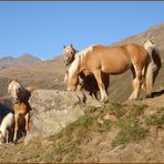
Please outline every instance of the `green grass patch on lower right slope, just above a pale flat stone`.
M126 144L130 142L136 142L144 139L147 134L147 130L140 125L136 117L127 117L119 123L120 132L112 142L112 146L120 144Z

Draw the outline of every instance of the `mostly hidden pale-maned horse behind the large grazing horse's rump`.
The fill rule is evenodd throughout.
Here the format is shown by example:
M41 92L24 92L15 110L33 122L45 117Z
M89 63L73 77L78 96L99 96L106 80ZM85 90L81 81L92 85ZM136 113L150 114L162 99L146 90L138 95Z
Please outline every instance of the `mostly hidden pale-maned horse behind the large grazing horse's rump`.
M158 74L158 70L161 69L161 58L158 49L151 40L147 40L144 43L144 48L148 52L150 58L147 62L147 68L144 68L145 80L142 88L146 92L147 96L152 96L153 85Z

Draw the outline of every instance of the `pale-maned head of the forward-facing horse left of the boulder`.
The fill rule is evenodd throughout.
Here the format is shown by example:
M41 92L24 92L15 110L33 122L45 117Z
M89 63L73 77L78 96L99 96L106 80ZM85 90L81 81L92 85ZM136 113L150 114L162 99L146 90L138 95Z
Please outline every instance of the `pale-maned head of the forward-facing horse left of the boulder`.
M23 96L23 86L17 81L11 81L8 86L8 92L12 95L13 103L18 103Z

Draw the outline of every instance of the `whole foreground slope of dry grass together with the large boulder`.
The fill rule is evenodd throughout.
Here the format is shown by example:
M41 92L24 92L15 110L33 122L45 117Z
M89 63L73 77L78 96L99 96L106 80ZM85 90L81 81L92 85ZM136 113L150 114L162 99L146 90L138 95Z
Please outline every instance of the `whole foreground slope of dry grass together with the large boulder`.
M163 100L103 105L82 92L37 90L29 135L0 145L0 162L163 163Z

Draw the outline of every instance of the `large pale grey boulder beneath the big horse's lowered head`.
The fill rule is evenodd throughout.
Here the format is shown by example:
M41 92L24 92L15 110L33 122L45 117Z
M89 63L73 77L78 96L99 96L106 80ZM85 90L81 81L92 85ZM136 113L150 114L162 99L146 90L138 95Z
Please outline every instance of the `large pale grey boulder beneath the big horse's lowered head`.
M101 106L86 93L58 90L35 90L30 104L31 132L42 137L54 135L78 120L85 106Z

